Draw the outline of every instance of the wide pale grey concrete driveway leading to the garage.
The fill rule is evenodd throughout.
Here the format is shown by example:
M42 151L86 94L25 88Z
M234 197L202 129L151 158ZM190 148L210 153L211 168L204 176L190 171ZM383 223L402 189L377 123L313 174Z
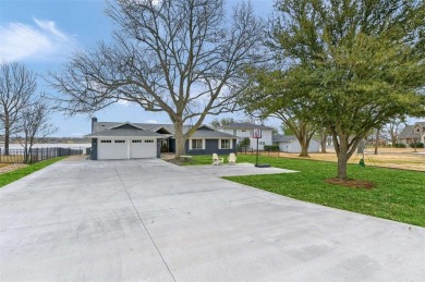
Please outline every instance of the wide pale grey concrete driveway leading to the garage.
M61 161L1 188L0 200L1 281L425 277L423 228L161 160Z

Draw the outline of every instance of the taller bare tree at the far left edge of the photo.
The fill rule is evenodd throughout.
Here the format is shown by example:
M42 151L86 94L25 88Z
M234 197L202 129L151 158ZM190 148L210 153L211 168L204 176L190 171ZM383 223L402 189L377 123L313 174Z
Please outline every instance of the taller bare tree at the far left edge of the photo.
M19 131L19 118L37 88L36 75L19 63L0 63L0 128L4 131L4 154L10 137Z

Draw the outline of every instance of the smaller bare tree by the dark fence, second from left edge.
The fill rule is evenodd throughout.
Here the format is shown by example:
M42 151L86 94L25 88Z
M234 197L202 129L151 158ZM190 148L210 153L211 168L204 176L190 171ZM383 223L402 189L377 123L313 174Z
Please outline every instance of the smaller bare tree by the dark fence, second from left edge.
M38 138L45 138L58 131L50 121L51 110L45 98L39 98L26 107L20 114L17 139L24 147L24 162L32 162L32 149Z

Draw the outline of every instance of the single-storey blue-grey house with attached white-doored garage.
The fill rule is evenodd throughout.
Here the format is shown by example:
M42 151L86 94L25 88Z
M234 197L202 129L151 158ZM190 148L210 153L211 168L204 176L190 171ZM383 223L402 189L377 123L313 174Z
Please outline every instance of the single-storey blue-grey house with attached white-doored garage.
M184 133L191 128L184 125ZM172 124L98 122L92 119L92 159L139 159L159 158L161 151L175 151L174 127ZM234 152L236 137L201 126L186 140L190 155L228 155Z

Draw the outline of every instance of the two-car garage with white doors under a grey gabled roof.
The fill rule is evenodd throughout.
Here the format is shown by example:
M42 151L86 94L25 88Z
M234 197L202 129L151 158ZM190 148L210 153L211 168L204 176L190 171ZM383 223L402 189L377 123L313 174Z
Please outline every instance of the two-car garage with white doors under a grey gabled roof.
M160 134L130 123L87 135L92 137L92 159L121 160L158 158Z

